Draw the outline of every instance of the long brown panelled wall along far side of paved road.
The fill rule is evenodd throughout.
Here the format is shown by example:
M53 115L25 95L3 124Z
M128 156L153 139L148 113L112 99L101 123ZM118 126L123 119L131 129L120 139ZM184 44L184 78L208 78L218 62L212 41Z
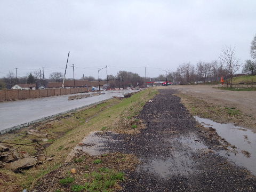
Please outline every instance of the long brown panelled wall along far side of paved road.
M90 92L92 87L77 87L70 89L45 89L45 90L1 90L0 102L14 101L19 99L34 99L41 97L52 97L65 94Z

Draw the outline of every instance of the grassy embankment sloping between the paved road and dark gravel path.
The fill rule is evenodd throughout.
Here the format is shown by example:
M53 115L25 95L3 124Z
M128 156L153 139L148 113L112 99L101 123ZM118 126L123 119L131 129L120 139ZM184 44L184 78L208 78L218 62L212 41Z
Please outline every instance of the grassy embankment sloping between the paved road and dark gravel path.
M114 179L105 180L106 186L108 186L105 187L114 189L115 186L117 186L115 183L119 180L123 180L124 178L123 173L119 172L126 168L120 164L122 164L122 162L124 164L125 162L130 162L130 164L137 163L138 161L135 157L129 154L110 154L102 156L102 158L88 157L84 162L85 158L79 159L80 157L74 156L74 158L71 159L71 162L69 162L69 165L65 164L66 158L71 150L78 146L79 142L81 142L83 138L92 131L115 130L116 132L119 131L129 134L139 132L139 130L143 128L143 123L138 121L134 116L139 114L139 111L143 108L145 103L150 98L153 98L156 93L157 91L154 89L143 90L133 94L130 98L110 99L92 107L79 109L78 111L61 115L45 122L29 125L21 130L15 130L7 134L0 135L0 140L5 142L38 142L46 148L47 157L51 158L51 161L43 161L42 164L38 164L26 170L17 170L15 173L10 170L1 169L0 182L2 185L0 186L0 190L20 191L21 189L30 189L38 185L40 186L44 181L41 179L54 175L54 170L56 170L56 172L61 172L60 175L62 176L55 180L55 182L58 182L58 185L51 186L50 184L52 183L49 185L45 183L45 191L58 191L60 189L66 191L75 190L79 188L79 185L81 185L79 182L82 182L82 179L84 181L85 173L88 173L89 179L87 182L91 183L89 185L92 187L92 185L98 181L95 179L97 176L94 175L94 171L97 169L99 170L100 168L102 168L101 175L106 175L106 178L110 178L111 175L114 175ZM31 132L29 131L31 129L36 130L34 132L38 134L29 134L28 132ZM42 137L39 135L42 135ZM21 151L26 151L26 153L31 153L31 155L36 155L37 153L37 151L31 150L29 146L20 147L18 152L20 153ZM86 164L88 164L89 161L92 162L89 164L90 166L86 168ZM109 161L112 163L109 163ZM119 162L118 165L120 166L118 166L118 169L115 168L117 167L115 162ZM72 175L73 173L70 171L70 164L72 163L78 163L77 165L74 164L76 170L78 169L78 165L83 166L83 171L78 173L76 172L76 176ZM112 169L105 170L104 166L106 166L106 164L112 164ZM133 166L131 166L131 169L132 167ZM70 177L75 180L74 183L73 181L69 183L69 181L73 180L69 179ZM65 182L67 182L66 184L68 185L63 184ZM112 184L109 185L109 182ZM58 187L60 187L60 189ZM103 186L99 187L99 189L105 189L102 188Z

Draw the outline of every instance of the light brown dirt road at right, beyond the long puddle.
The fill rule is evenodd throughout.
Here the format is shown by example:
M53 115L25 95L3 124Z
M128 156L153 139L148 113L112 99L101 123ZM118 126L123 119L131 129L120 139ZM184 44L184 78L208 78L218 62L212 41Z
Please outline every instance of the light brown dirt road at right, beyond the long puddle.
M256 115L256 93L254 91L227 91L213 89L214 86L217 85L175 85L170 88L207 102L236 107L245 114Z

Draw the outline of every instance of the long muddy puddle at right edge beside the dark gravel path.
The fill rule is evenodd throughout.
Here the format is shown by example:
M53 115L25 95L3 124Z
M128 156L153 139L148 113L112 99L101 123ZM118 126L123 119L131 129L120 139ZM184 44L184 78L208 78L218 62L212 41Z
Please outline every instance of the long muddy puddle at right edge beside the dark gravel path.
M239 166L246 167L256 175L256 134L244 127L235 126L233 124L221 124L210 119L195 117L195 119L205 127L213 127L216 129L220 137L224 138L231 145L235 145L234 153L232 151L221 150L217 154L225 156L235 162ZM250 153L246 154L245 151Z

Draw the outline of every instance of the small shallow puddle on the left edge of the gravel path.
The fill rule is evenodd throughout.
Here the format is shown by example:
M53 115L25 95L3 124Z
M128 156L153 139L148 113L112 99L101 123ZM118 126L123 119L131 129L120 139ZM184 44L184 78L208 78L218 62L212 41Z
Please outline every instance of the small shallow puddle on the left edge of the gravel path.
M114 143L116 141L111 137L111 135L116 133L110 131L103 135L101 133L101 131L91 132L82 141L85 145L77 146L75 149L82 150L84 153L92 156L108 153L110 148L106 147L106 144L109 142Z

